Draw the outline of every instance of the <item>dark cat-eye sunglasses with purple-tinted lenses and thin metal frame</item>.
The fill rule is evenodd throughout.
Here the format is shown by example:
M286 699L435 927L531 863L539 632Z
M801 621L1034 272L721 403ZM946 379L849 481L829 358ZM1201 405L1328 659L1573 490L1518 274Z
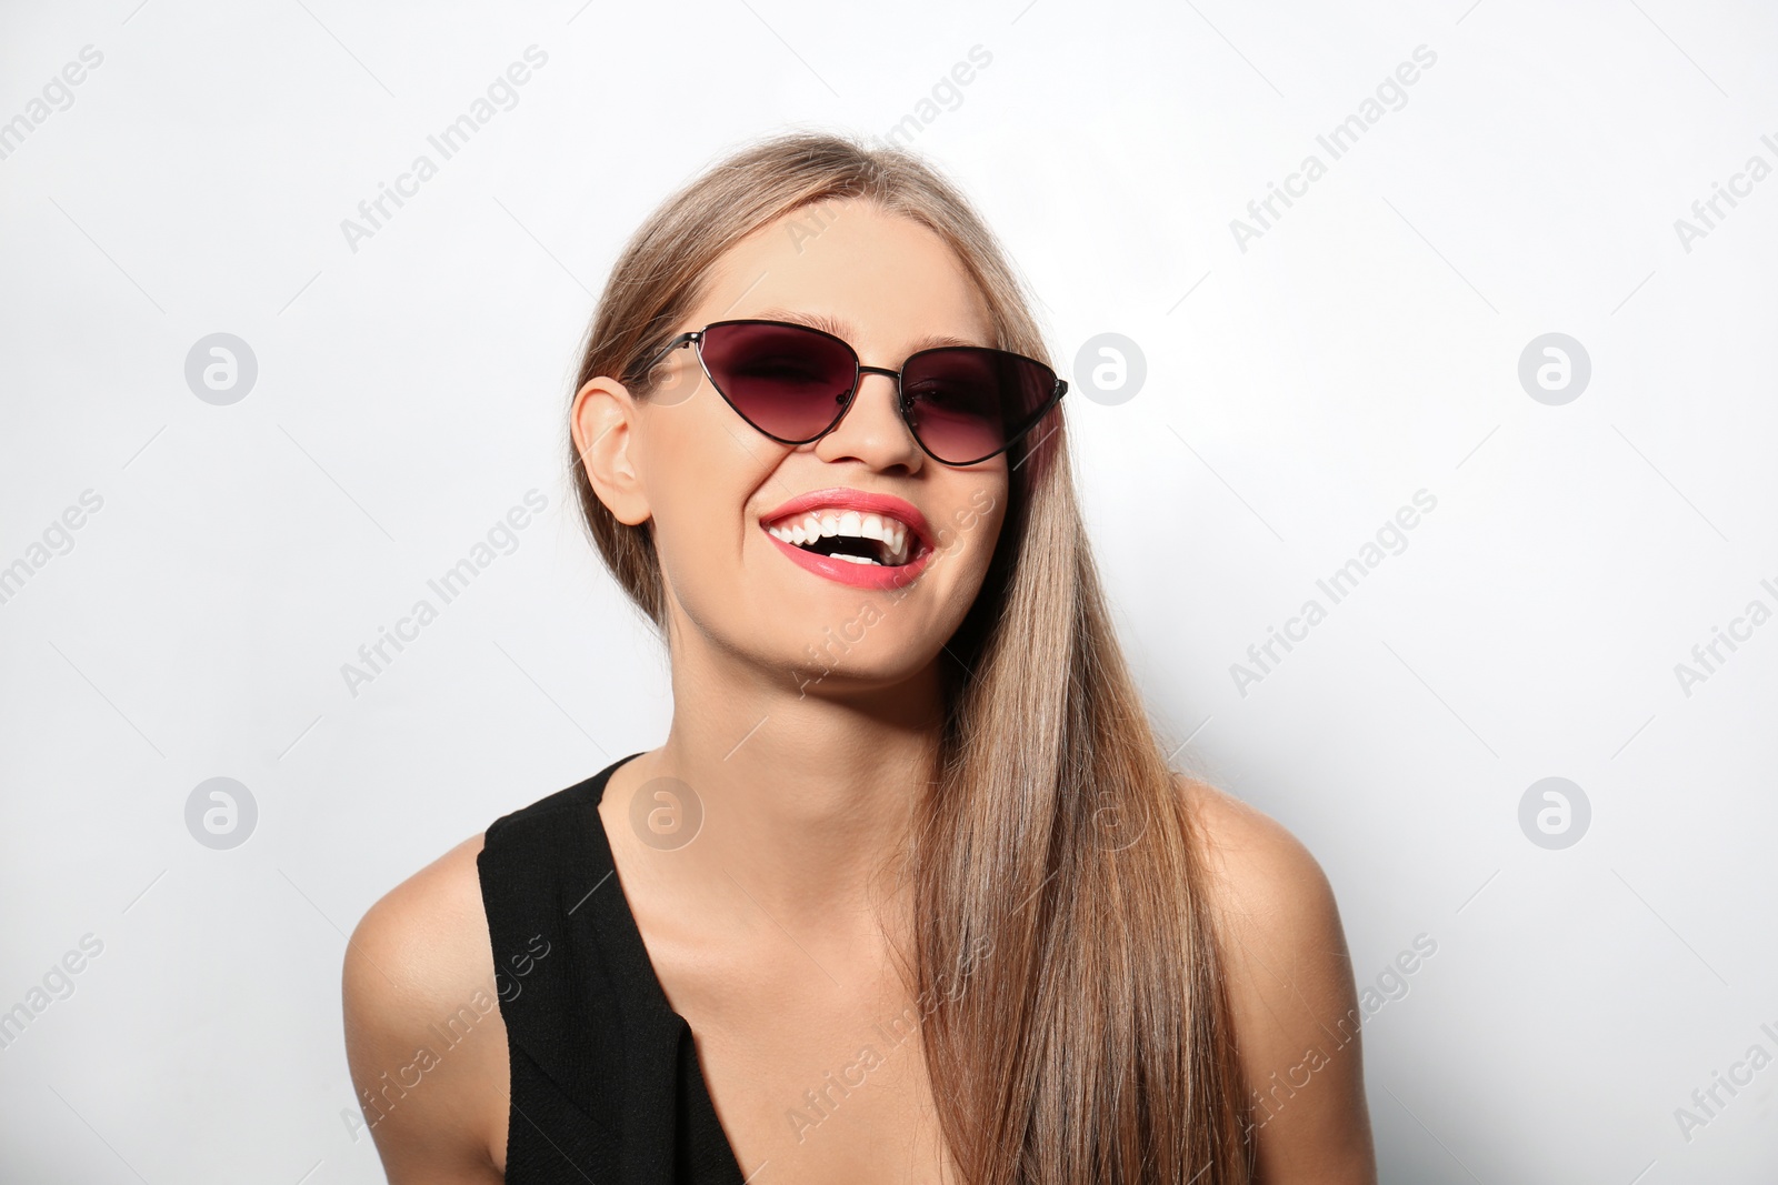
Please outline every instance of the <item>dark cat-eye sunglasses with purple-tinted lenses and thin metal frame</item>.
M864 375L896 380L896 409L921 451L944 465L978 465L1012 448L1069 384L1010 350L937 346L901 370L864 366L845 339L789 322L713 322L679 334L644 366L647 377L679 346L695 346L709 386L779 444L809 444L839 426Z

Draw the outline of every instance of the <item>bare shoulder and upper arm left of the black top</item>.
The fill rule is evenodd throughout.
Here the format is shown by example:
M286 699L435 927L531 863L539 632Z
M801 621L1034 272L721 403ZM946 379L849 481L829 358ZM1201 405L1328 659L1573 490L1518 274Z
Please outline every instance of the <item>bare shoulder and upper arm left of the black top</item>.
M391 1185L503 1180L510 1066L480 851L475 835L409 876L347 942L347 1061Z

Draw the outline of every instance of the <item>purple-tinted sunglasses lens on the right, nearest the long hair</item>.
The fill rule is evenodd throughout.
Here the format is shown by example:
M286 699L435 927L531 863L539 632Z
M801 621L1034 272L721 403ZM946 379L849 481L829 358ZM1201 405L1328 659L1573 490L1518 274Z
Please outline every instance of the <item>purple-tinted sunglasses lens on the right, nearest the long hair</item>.
M925 350L901 371L914 435L951 465L985 460L1017 441L1054 391L1056 373L1042 362L985 346Z

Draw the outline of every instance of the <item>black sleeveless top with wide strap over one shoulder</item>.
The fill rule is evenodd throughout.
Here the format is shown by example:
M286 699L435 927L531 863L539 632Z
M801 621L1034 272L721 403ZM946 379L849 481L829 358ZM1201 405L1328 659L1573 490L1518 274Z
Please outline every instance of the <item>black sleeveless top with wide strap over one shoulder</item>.
M501 815L477 856L512 1066L510 1185L743 1185L596 810L633 757Z

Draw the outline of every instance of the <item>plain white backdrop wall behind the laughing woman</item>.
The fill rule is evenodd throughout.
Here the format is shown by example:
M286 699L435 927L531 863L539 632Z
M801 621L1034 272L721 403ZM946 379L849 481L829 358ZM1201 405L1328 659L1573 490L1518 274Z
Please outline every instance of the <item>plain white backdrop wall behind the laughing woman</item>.
M382 1180L345 934L665 736L560 467L592 293L736 144L900 126L1045 302L1179 760L1334 881L1383 1180L1771 1181L1774 52L1753 0L5 5L0 1178Z

